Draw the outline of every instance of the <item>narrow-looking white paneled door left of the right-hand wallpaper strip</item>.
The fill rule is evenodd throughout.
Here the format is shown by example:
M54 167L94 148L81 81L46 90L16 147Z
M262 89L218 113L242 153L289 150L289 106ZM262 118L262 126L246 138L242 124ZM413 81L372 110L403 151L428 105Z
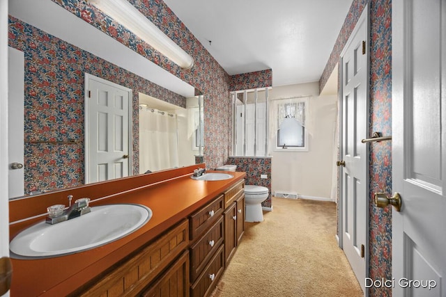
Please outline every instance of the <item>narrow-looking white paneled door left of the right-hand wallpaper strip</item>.
M367 277L369 154L361 143L369 134L368 99L368 8L364 9L344 51L342 65L341 159L341 246L364 290Z

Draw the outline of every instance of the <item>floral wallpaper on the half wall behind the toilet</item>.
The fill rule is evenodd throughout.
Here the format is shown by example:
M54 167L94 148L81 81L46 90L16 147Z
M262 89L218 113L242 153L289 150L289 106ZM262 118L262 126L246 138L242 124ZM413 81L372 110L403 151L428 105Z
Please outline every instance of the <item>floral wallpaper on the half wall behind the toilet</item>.
M246 172L245 184L254 184L268 188L270 194L262 203L263 207L272 207L271 203L271 158L256 158L249 156L229 157L226 164L236 165L236 171ZM260 175L267 175L268 179L261 179Z

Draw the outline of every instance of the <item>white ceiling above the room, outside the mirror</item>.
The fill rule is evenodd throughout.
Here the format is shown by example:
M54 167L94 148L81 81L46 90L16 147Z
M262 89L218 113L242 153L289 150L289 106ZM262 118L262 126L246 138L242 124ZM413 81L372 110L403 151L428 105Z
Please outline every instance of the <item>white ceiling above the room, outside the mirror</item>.
M164 0L228 74L319 81L352 0Z

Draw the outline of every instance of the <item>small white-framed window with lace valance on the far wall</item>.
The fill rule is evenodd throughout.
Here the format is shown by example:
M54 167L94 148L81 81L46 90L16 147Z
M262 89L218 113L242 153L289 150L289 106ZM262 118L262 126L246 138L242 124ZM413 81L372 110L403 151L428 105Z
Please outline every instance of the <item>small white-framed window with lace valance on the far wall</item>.
M275 150L307 151L307 98L278 99L275 111Z

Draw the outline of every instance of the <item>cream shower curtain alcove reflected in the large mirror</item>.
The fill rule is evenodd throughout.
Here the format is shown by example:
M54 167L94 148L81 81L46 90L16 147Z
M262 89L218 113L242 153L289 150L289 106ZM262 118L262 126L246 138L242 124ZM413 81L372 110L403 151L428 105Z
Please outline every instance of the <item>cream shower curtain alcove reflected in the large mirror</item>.
M199 113L202 100L203 96L189 97L184 109L139 93L139 173L195 162L203 145L199 141L199 131L203 129Z

